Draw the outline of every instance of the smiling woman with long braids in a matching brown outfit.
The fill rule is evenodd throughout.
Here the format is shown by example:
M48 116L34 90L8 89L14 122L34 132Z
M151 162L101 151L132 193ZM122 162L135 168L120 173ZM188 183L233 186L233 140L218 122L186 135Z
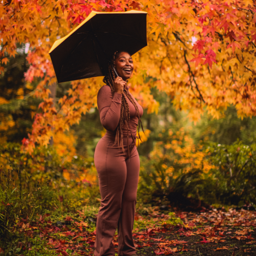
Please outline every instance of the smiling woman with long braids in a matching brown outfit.
M135 145L143 108L129 92L134 70L128 52L115 52L97 96L100 120L107 130L99 140L94 162L99 176L101 207L96 224L95 256L115 256L113 236L118 228L118 252L136 253L132 236L140 159ZM136 254L135 254L136 255Z

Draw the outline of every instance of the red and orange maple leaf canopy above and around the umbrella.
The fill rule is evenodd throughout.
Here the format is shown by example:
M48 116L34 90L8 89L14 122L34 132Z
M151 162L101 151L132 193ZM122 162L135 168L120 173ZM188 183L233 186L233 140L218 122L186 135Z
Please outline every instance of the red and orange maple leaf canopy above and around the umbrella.
M47 145L54 134L78 123L81 114L96 105L102 78L73 81L68 95L54 102L56 83L49 49L92 10L148 12L148 47L133 56L136 68L129 81L137 100L157 111L151 95L157 87L171 97L177 109L196 121L204 111L219 118L234 105L238 116L256 114L256 4L253 0L7 0L0 3L2 74L17 53L17 44L29 44L26 84L40 82L35 96L42 99L32 132L23 144Z

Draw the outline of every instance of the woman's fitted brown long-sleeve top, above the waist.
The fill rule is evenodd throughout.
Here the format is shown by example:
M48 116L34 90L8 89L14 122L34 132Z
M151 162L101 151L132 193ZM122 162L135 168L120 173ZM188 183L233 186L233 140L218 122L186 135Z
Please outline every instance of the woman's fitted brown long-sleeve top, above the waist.
M135 136L139 121L138 114L132 102L128 99L126 95L125 97L129 105L131 133L132 136ZM131 95L131 97L134 99L134 96ZM116 135L116 128L119 124L120 119L121 98L122 94L113 94L111 92L111 88L108 85L104 85L99 89L97 95L97 105L99 109L100 121L103 127L107 130L107 134L109 135ZM134 102L137 104L141 117L143 115L143 108L136 101L136 99L134 99ZM131 133L129 132L129 137L131 137ZM127 128L125 127L125 125L123 127L123 136L127 136Z

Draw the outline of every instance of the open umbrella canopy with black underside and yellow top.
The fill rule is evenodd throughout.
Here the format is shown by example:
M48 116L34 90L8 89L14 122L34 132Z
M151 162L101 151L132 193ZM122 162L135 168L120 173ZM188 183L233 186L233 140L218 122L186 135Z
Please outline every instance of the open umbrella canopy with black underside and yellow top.
M147 46L146 12L91 12L49 54L58 83L105 76L115 51L133 55Z

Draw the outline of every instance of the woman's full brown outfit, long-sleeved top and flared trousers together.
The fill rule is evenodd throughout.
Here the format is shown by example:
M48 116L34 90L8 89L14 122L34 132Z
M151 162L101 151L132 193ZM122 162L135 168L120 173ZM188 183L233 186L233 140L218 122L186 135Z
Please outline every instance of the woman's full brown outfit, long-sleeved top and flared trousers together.
M97 105L100 120L107 130L99 140L94 154L94 163L99 176L101 206L96 223L95 256L114 256L113 236L118 230L118 252L122 256L136 253L132 236L134 225L140 159L136 146L129 134L130 156L128 155L127 130L123 144L125 153L115 143L116 128L120 119L122 94L112 93L108 85L99 90ZM138 116L131 101L125 96L130 110L130 127L136 136ZM133 96L132 96L133 97ZM134 97L133 97L134 99ZM140 116L143 108L136 102Z

